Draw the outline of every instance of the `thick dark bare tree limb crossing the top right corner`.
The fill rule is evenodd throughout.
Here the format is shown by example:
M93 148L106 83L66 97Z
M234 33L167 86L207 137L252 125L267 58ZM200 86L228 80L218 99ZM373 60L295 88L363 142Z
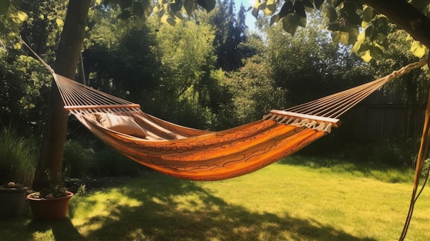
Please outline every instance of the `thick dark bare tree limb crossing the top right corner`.
M405 0L363 0L430 49L430 19Z

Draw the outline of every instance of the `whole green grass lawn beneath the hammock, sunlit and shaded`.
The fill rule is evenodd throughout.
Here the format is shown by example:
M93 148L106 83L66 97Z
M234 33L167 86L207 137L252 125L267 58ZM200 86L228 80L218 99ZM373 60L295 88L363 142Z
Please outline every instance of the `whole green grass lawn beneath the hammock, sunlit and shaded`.
M398 240L411 183L276 163L236 179L155 172L71 200L62 222L0 220L0 240ZM430 193L407 240L430 240ZM28 210L27 210L28 212Z

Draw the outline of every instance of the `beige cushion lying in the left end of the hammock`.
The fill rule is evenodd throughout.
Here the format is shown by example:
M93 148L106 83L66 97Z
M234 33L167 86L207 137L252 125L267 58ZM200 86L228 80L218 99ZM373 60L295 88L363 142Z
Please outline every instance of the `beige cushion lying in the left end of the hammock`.
M146 137L145 130L135 122L133 117L109 113L94 113L94 115L105 128L135 137Z

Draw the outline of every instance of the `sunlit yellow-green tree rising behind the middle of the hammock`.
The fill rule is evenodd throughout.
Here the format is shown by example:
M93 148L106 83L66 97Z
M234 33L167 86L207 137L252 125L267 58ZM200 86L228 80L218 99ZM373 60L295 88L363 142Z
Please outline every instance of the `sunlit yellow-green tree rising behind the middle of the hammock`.
M157 40L161 76L148 111L185 126L205 128L202 120L210 109L205 108L204 93L216 60L211 27L194 21L164 25Z

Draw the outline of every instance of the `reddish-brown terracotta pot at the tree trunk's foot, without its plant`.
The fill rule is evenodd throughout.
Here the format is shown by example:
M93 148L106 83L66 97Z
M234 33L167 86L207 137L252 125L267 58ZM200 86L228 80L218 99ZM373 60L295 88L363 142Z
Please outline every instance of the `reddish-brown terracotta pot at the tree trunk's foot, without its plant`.
M70 198L72 192L66 192L67 196L60 198L34 198L33 194L28 194L27 199L30 200L30 207L34 220L58 221L63 220L67 216L69 209Z

